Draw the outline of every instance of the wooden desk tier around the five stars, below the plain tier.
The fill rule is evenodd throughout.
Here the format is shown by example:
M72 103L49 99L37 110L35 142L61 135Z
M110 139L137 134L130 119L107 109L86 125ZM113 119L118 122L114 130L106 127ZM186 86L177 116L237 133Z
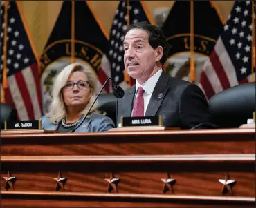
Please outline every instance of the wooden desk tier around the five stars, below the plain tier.
M55 193L73 193L74 196L88 197L86 193L98 196L108 192L110 173L120 179L117 185L118 194L135 194L145 196L158 196L166 200L166 196L181 198L196 198L208 203L214 197L223 199L228 196L232 200L237 197L250 200L255 199L255 154L249 155L197 155L197 156L79 156L79 157L35 157L35 156L3 156L2 174L8 171L17 178L15 192L12 189L3 191L3 199L10 193L19 195L35 193L46 194L55 191L58 171L68 178L65 190ZM175 178L174 193L167 191L163 194L164 183L161 178L167 179L167 172ZM232 194L223 194L219 179L235 179ZM2 179L2 190L6 181ZM30 193L30 194L29 194ZM111 191L116 193L116 190ZM146 195L145 195L146 194ZM93 195L94 196L94 195ZM102 195L104 196L104 195ZM58 197L58 196L56 196ZM136 198L135 197L135 198ZM171 197L171 198L172 198ZM207 198L209 197L209 198ZM47 198L47 197L46 197ZM154 198L154 197L153 197ZM170 198L167 198L170 200Z

